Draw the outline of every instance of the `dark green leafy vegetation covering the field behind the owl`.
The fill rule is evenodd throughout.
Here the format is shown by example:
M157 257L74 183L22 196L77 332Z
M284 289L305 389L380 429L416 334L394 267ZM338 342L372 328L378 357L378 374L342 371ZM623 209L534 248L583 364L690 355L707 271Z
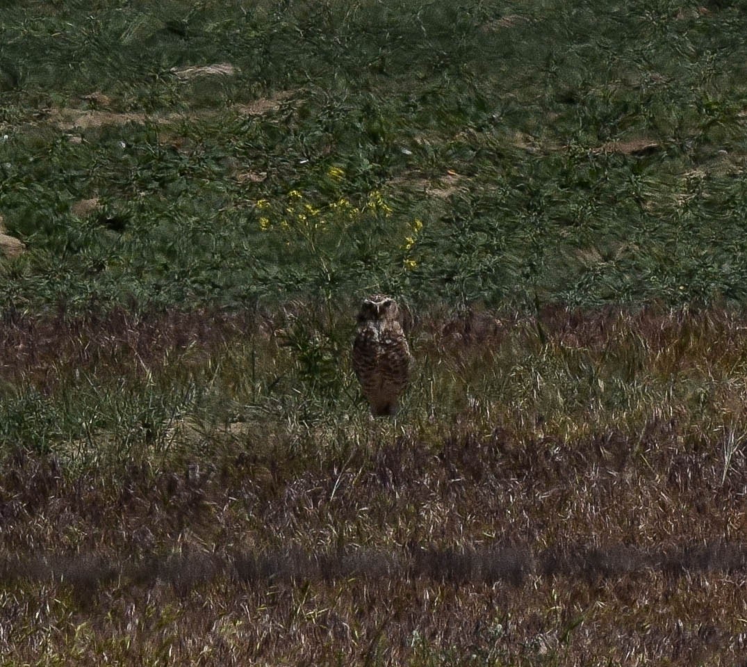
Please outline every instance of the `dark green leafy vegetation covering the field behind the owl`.
M273 7L4 10L0 212L28 245L4 304L743 303L739 3ZM109 116L55 115L90 108ZM291 191L392 211L316 248L259 228L256 202Z

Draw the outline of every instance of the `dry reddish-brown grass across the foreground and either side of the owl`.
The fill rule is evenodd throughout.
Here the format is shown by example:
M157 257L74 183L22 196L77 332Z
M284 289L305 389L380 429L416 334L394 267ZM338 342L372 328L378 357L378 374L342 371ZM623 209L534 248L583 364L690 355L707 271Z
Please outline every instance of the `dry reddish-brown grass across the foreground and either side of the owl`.
M534 349L583 352L631 384L669 378L669 399L604 428L568 429L531 402L513 418L504 395L435 421L340 415L300 444L290 425L247 423L118 468L73 472L16 447L0 479L4 664L738 664L745 399L728 390L746 324L657 309L411 322L421 363L438 351L465 374ZM1 371L54 393L53 354L94 376L141 360L158 374L176 350L208 363L277 326L13 316ZM701 416L677 388L691 381L707 387Z

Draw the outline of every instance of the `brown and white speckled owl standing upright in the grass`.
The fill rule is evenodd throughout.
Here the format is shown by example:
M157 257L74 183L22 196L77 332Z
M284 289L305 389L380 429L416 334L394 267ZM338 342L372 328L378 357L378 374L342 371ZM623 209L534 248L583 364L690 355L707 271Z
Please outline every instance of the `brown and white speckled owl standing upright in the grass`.
M394 415L407 386L412 356L394 299L376 294L361 304L353 369L374 417Z

